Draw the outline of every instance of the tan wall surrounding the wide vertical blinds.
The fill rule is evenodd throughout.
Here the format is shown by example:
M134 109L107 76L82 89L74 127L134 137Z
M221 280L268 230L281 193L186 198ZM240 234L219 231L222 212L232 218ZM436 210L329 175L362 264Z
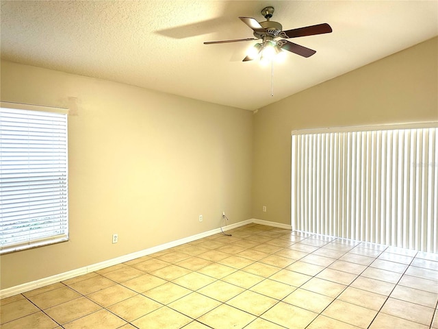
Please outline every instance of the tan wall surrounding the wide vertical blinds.
M437 50L433 38L261 108L254 116L253 217L290 224L292 130L437 121Z

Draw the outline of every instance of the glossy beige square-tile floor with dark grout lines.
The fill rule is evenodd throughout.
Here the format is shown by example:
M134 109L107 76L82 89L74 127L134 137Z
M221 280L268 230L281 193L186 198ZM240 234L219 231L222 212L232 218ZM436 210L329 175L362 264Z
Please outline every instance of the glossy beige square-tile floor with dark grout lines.
M438 254L251 224L1 300L2 329L438 328Z

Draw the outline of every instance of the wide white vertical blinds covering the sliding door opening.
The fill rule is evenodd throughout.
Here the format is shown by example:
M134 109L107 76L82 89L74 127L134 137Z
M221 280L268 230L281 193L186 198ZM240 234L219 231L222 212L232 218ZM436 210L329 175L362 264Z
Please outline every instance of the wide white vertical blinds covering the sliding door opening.
M292 132L295 230L438 252L437 124Z

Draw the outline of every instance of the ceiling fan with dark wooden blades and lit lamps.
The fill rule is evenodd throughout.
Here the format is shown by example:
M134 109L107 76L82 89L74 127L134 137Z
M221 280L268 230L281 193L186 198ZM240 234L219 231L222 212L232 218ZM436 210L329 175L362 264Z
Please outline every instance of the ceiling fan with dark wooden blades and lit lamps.
M331 26L327 23L300 27L298 29L288 29L287 31L283 31L283 27L280 23L270 21L272 14L274 14L274 7L263 8L263 10L261 10L261 14L265 17L266 21L260 23L251 17L239 17L239 19L246 25L248 25L250 29L253 29L255 38L207 41L204 42L204 45L261 40L261 42L256 43L255 46L250 49L248 56L244 58L243 62L246 62L248 60L255 60L255 58L257 58L258 56L260 56L261 60L270 60L274 58L276 54L282 53L282 50L287 50L307 58L316 53L316 51L283 39L298 38L300 36L313 36L315 34L332 32ZM276 40L276 38L283 39Z

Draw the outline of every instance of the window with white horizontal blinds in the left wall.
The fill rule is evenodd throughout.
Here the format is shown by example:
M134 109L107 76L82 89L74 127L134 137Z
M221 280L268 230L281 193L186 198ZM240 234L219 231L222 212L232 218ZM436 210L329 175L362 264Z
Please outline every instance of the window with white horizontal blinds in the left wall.
M67 114L1 103L0 254L68 240Z

